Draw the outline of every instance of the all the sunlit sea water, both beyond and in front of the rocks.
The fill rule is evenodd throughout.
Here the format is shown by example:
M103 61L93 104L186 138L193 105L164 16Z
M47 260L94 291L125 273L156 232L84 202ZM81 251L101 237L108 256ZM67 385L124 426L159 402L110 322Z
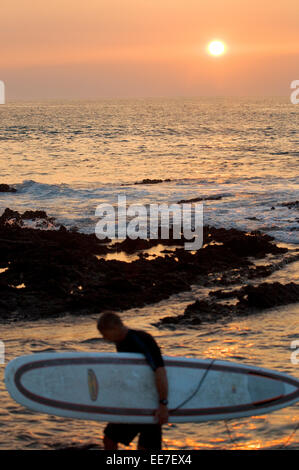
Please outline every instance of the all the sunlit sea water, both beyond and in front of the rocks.
M92 233L98 204L204 201L204 222L262 230L298 250L298 209L281 204L298 197L299 107L288 99L145 99L96 102L11 102L0 107L0 193L6 208L43 209L67 227ZM135 185L145 178L170 179ZM299 278L299 263L268 281ZM163 353L217 357L269 367L299 377L291 342L299 339L299 304L233 322L196 329L157 329L153 322L181 314L205 295L191 292L123 313L132 327L151 332ZM96 315L1 325L6 362L41 351L101 351ZM8 396L0 364L2 449L56 448L99 443L104 423L39 415ZM299 404L275 413L224 422L167 425L165 449L263 449L299 447ZM136 443L132 444L135 448Z

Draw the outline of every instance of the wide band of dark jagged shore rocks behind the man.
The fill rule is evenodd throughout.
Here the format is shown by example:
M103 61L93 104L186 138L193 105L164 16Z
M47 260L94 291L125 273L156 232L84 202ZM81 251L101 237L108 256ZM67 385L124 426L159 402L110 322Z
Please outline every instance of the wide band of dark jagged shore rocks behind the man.
M24 224L28 219L43 220L52 224L52 229L27 227ZM35 320L66 313L88 315L105 309L121 312L189 291L192 284L213 290L245 284L249 279L270 275L299 256L290 257L286 248L278 247L272 237L257 231L245 233L205 226L203 240L203 247L194 252L184 249L183 239L127 239L111 243L108 239L99 240L95 234L67 230L44 211L20 214L6 209L0 217L0 319ZM139 256L132 262L104 259L105 255L120 251L142 254L157 244L171 249L164 249L163 256ZM254 265L255 259L266 256L278 256L281 260L276 265L269 262ZM262 284L262 290L267 288ZM278 286L273 289L277 295L280 293L280 300L275 297L280 303L275 305L297 301L298 286L289 286L288 293ZM249 307L264 308L262 290L236 291L234 295L240 305L233 313L240 314ZM271 292L267 299L271 299ZM197 318L201 317L201 321L204 316L213 320L231 314L231 307L220 302L210 299L198 302L196 310L201 314ZM187 317L183 315L184 322L189 316L191 323L197 321L192 310L190 307ZM161 324L165 323L162 320Z

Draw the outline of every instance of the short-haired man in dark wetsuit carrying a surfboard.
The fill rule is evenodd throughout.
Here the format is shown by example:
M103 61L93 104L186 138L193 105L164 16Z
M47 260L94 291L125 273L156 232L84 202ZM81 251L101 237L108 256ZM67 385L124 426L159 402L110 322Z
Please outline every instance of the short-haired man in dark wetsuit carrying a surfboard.
M161 350L145 331L128 328L114 312L104 312L97 323L104 339L115 343L118 352L142 353L155 374L159 403L156 423L108 423L104 430L105 450L117 450L118 443L129 445L139 434L138 450L161 450L162 425L168 421L168 381Z

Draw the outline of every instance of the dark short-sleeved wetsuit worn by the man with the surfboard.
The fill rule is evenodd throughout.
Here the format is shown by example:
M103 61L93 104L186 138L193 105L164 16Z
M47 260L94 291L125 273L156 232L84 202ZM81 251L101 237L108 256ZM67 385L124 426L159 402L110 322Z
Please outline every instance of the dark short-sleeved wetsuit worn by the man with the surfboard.
M118 352L144 354L153 371L158 367L164 367L159 346L145 331L129 329L123 341L116 343L116 349ZM140 433L139 445L141 447L147 450L161 450L162 426L160 424L109 423L104 433L113 442L121 442L124 445L129 445Z

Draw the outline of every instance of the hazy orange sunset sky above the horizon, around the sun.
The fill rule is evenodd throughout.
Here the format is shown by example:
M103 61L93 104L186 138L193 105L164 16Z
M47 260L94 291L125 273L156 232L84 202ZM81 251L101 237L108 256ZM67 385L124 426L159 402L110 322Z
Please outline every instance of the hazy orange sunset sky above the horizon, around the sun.
M226 53L207 53L212 40ZM299 79L298 0L7 0L8 99L284 95Z

